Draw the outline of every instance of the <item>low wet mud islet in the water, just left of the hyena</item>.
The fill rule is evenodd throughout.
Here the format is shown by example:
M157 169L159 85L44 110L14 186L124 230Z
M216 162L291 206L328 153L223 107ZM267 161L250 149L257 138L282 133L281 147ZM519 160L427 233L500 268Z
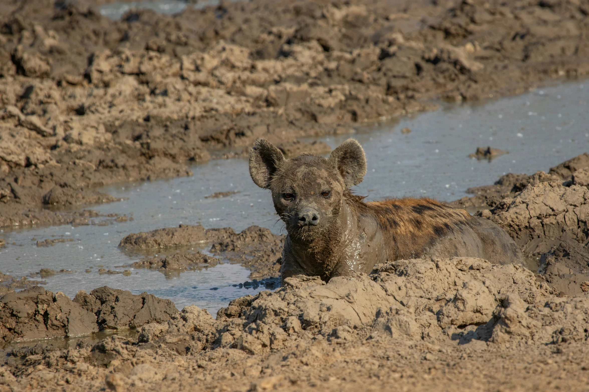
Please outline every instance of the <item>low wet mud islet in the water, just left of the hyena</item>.
M202 225L180 225L129 234L121 240L119 246L127 250L180 248L180 253L171 256L148 257L135 262L131 265L133 268L157 269L164 273L184 272L213 267L221 260L227 260L249 268L252 271L250 279L259 280L279 276L283 243L284 236L259 226L250 226L236 233L230 227L204 229ZM209 252L217 257L200 252L186 253L188 246L203 244L210 244Z

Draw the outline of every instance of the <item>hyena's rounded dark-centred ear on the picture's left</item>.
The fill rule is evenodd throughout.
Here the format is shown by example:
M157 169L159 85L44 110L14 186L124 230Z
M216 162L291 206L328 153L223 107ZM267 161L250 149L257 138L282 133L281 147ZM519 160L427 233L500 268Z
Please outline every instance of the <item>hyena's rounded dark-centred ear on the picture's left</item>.
M257 186L269 189L272 176L284 162L284 155L272 143L257 139L250 151L250 176Z

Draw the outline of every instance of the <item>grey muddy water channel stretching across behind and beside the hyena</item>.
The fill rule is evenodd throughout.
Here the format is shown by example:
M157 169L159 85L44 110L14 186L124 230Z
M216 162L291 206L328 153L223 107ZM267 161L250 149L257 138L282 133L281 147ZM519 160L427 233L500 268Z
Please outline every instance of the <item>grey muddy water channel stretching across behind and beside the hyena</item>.
M482 105L444 104L435 112L359 129L355 137L366 150L368 173L356 192L368 195L368 199L428 196L455 200L466 195L466 188L493 183L507 172L547 171L589 150L588 100L589 85L569 82ZM402 133L403 128L411 132ZM323 140L335 147L343 139ZM509 153L490 162L468 158L478 146ZM249 271L229 263L167 276L128 267L143 257L118 249L121 238L129 233L181 223L233 227L236 231L250 225L268 227L276 233L283 230L269 193L250 179L246 160L215 160L193 170L194 176L189 178L102 189L127 199L94 209L133 216L129 222L5 230L0 237L8 246L0 250L0 270L14 276L41 268L71 270L48 277L44 286L68 296L104 285L135 294L147 291L173 300L178 309L194 303L212 314L230 299L262 290L236 286L247 280ZM226 191L236 193L207 198ZM37 247L34 240L61 237L72 241ZM131 276L101 275L100 268L119 272L130 269Z

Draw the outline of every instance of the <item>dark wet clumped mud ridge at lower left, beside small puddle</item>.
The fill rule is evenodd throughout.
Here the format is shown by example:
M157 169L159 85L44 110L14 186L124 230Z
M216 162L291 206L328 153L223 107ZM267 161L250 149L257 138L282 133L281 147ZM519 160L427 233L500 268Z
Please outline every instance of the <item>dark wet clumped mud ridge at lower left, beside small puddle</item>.
M82 290L74 300L64 293L54 294L35 286L6 293L0 303L0 339L5 342L136 329L167 321L177 313L170 300L147 293L133 295L106 286L92 290L90 295Z

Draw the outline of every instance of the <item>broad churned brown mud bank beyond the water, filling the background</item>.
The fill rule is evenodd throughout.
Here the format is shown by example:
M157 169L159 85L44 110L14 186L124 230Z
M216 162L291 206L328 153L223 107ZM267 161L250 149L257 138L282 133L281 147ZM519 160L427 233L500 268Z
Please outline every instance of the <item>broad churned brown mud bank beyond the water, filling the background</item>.
M92 4L2 5L2 226L63 223L39 208L110 202L92 189L191 175L260 136L327 152L297 140L589 72L584 1L256 0L121 21Z

